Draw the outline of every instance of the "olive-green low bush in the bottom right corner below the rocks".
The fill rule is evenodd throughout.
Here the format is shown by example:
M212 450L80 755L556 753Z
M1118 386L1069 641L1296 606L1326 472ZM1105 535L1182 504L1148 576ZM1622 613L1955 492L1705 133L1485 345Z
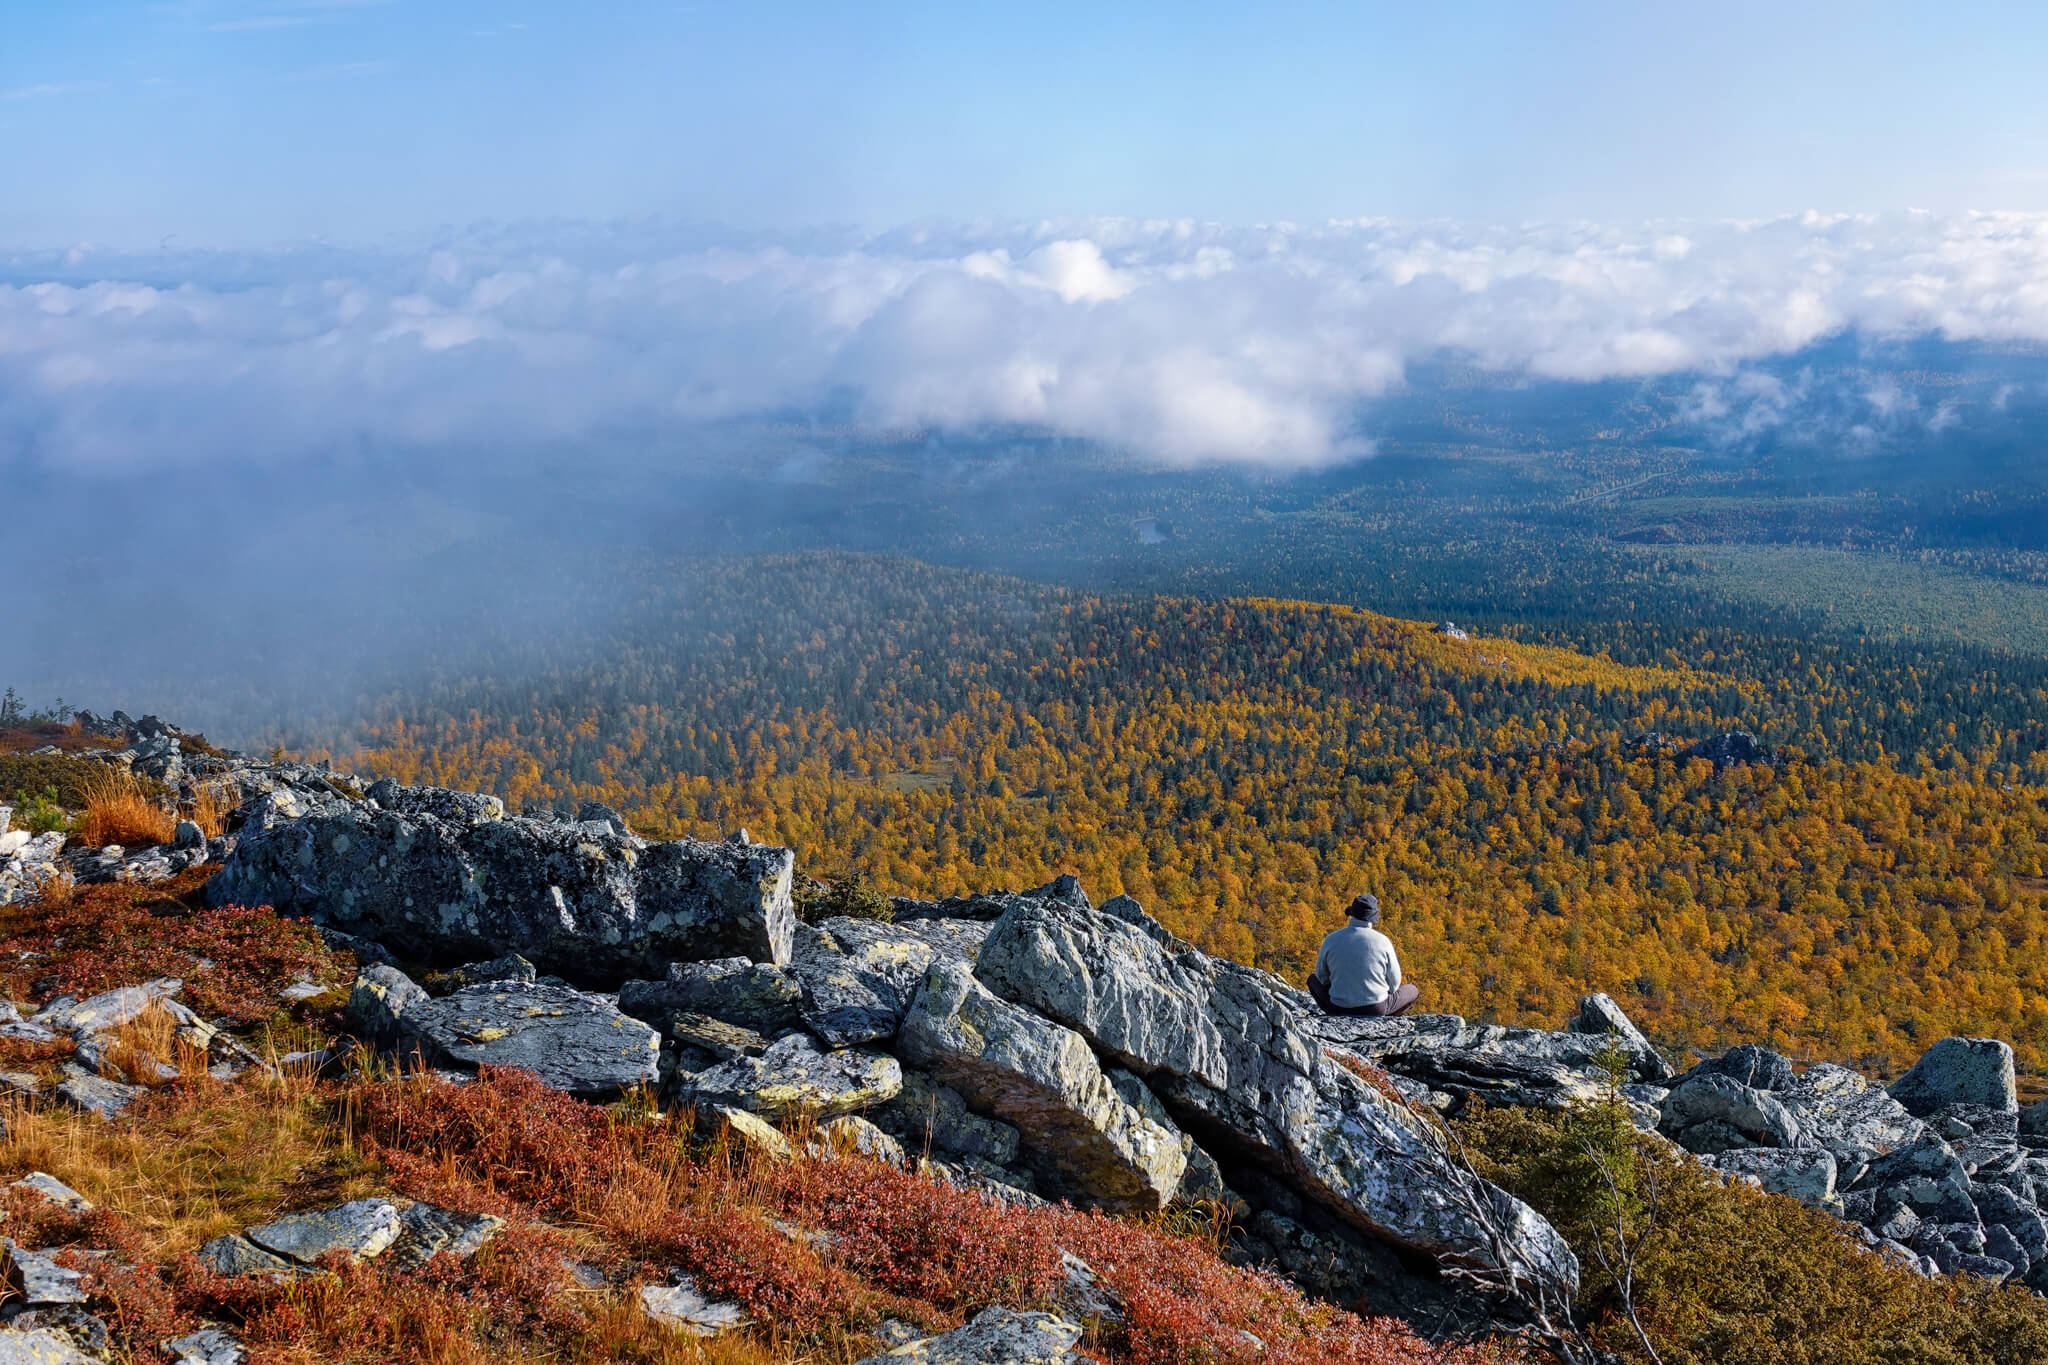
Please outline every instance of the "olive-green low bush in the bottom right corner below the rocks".
M2048 1304L1982 1279L1921 1279L1794 1199L1722 1183L1638 1136L1618 1105L1481 1109L1460 1124L1481 1171L1556 1222L1587 1267L1602 1347L1647 1361L1593 1238L1640 1238L1634 1306L1663 1365L2034 1365ZM1653 1197L1655 1191L1655 1197Z

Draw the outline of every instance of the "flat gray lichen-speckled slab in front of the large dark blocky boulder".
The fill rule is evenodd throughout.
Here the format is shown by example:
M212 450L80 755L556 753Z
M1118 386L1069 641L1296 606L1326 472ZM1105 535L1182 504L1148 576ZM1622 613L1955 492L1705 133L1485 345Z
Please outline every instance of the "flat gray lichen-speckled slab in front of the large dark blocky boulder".
M428 1066L528 1070L557 1091L612 1099L662 1072L662 1036L610 997L551 982L469 986L418 1001L397 1019L399 1050Z

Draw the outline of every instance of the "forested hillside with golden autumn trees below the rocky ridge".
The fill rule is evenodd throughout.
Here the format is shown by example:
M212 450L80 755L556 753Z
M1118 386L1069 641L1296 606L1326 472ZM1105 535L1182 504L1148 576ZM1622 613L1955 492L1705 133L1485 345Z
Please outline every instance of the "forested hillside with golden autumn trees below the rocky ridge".
M608 645L385 698L334 751L514 808L745 825L905 894L1073 870L1294 978L1370 886L1432 1003L1473 1017L1612 990L1675 1044L2048 1058L2048 712L2021 669L1739 630L1620 667L842 555L627 591ZM1776 761L1636 743L1724 731Z

